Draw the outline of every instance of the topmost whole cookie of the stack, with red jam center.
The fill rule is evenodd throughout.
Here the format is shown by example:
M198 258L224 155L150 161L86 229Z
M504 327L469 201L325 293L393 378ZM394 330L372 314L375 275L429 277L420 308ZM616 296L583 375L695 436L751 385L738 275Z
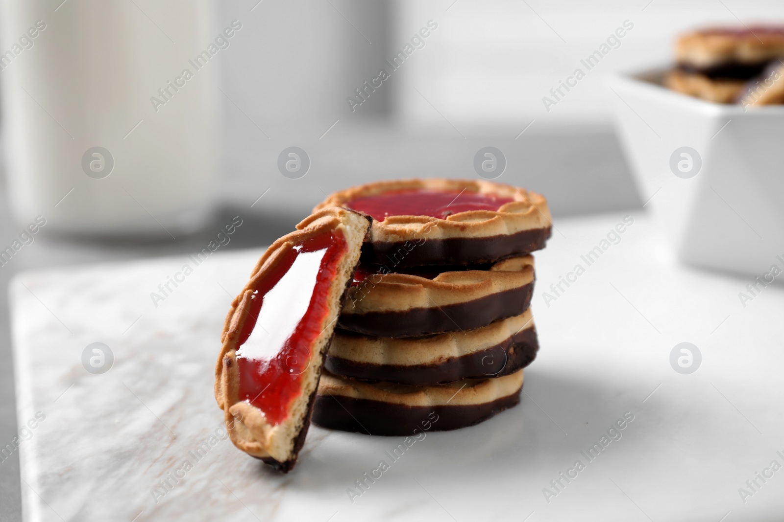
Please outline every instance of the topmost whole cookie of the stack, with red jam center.
M315 210L330 206L371 215L362 261L395 268L528 254L545 246L552 221L544 196L486 181L376 182L332 193Z

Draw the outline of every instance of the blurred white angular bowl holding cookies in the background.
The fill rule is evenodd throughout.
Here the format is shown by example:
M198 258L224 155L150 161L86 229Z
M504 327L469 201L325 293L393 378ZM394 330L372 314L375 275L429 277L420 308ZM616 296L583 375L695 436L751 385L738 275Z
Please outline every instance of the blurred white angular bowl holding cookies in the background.
M673 251L691 265L752 276L784 267L784 106L710 103L670 91L662 77L616 76L609 85L646 208ZM691 172L688 161L686 171L670 167L688 160L681 147L699 155Z

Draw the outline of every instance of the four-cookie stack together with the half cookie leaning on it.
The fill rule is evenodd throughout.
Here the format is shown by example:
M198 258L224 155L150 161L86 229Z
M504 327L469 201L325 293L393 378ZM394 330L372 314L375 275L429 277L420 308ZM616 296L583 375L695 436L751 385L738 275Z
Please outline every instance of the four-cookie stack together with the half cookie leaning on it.
M539 344L530 253L543 196L492 182L332 194L232 301L215 398L238 448L296 464L311 419L377 435L454 430L520 401Z

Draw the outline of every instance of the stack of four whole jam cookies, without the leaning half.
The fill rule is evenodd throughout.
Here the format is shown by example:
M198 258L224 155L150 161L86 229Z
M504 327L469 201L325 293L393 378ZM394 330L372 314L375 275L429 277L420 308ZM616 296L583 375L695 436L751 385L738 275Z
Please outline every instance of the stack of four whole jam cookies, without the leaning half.
M529 309L550 236L543 196L422 179L339 191L316 207L372 218L315 398L314 423L408 435L452 430L520 401L539 344ZM437 419L437 420L434 420Z

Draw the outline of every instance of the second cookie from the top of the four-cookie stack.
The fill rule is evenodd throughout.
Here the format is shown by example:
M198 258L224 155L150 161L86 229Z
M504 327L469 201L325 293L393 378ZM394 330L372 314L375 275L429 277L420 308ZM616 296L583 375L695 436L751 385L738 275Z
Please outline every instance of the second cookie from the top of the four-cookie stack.
M432 279L421 271L408 272L366 274L355 281L339 328L375 337L481 328L523 313L534 285L532 256L510 257L484 270L430 274Z

